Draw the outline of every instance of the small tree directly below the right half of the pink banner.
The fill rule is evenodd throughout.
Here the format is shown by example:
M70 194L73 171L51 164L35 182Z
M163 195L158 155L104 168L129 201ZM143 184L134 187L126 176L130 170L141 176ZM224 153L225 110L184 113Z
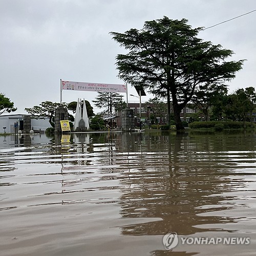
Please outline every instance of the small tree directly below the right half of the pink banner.
M98 92L93 102L98 108L105 108L108 114L112 114L115 107L122 105L122 98L119 93Z

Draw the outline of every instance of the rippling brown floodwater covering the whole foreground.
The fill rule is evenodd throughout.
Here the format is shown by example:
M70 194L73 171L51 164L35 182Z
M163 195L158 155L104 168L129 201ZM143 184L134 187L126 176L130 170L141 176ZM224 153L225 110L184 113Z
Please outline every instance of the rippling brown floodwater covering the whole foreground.
M256 253L255 132L0 140L1 256Z

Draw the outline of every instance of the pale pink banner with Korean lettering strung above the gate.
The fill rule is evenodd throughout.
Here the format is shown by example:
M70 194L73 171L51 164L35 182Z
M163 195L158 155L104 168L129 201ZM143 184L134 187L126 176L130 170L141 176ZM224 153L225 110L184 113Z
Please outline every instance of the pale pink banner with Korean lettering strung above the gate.
M62 81L62 90L126 93L125 84Z

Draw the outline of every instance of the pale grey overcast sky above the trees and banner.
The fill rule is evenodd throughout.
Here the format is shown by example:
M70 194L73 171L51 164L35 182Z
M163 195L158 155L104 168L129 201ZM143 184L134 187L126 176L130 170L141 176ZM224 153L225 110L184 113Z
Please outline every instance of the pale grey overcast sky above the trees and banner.
M207 28L255 9L255 0L0 0L0 92L14 102L15 113L24 114L25 108L42 101L59 102L60 79L123 83L117 78L115 57L124 49L109 32L141 29L146 20L163 16ZM230 92L255 87L255 23L252 12L199 34L232 50L232 60L247 59L228 83ZM130 85L128 94L136 95ZM96 96L62 92L64 102L80 97L93 105ZM129 96L129 101L137 100Z

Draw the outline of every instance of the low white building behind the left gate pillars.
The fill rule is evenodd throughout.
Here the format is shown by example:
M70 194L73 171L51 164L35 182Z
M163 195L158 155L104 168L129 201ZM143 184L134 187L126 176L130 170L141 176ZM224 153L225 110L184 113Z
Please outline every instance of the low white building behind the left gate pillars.
M14 127L18 127L18 130L23 131L23 117L26 116L21 114L11 114L11 115L0 115L0 133L14 133ZM4 129L4 127L6 127ZM34 119L31 118L31 129L33 131L45 131L48 127L51 127L49 123L49 117L44 117L44 119Z

